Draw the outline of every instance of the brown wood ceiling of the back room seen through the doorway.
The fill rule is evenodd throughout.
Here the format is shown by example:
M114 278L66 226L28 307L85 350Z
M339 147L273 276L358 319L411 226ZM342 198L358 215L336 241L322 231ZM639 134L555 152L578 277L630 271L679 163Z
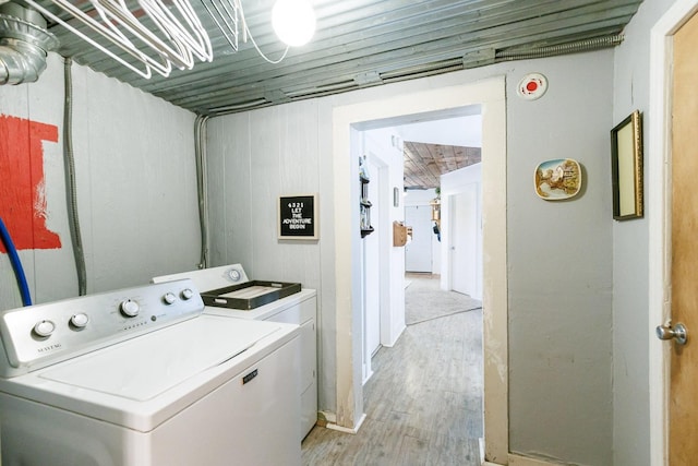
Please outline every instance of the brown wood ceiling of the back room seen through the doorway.
M441 176L481 162L480 147L404 143L405 189L441 186Z

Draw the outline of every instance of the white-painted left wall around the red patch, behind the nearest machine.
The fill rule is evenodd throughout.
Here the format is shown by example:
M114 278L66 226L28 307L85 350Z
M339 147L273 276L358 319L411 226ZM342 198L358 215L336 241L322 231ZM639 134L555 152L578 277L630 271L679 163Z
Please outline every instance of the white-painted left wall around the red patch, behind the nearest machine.
M87 68L73 64L72 70L87 291L145 284L155 275L195 267L201 242L194 115ZM62 59L50 53L37 83L0 86L0 112L58 127L59 142L44 144L44 171L47 224L61 247L23 250L20 256L34 302L76 296L62 157ZM0 309L21 304L12 268L0 254Z

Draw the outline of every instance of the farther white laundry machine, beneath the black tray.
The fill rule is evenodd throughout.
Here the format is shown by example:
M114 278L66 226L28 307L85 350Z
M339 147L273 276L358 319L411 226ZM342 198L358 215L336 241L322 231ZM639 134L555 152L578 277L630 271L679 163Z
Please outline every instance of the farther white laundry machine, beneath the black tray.
M153 283L189 278L204 294L207 290L250 283L241 264L230 264L153 278ZM263 291L261 291L263 292ZM317 422L317 292L302 288L253 309L231 309L206 306L204 313L245 320L285 322L300 325L300 439L302 440Z

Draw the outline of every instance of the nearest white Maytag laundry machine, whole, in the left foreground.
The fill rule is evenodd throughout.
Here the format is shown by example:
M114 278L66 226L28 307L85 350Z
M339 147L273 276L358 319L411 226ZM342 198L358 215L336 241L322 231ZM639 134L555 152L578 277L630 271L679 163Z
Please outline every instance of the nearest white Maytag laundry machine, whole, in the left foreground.
M191 280L0 313L3 466L300 465L293 324Z

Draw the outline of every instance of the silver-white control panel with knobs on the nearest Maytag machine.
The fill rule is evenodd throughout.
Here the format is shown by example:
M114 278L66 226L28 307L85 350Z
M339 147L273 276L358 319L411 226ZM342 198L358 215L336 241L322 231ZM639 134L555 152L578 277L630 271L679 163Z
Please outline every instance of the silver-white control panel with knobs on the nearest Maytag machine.
M10 378L161 330L204 310L190 279L0 312L0 377Z

